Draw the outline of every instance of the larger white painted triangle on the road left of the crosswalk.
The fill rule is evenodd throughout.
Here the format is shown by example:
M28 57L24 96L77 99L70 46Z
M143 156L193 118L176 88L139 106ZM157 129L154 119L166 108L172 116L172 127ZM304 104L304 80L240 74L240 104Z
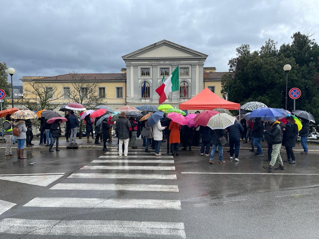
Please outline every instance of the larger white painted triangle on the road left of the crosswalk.
M0 179L45 187L53 183L60 177L63 177L63 175L1 176Z

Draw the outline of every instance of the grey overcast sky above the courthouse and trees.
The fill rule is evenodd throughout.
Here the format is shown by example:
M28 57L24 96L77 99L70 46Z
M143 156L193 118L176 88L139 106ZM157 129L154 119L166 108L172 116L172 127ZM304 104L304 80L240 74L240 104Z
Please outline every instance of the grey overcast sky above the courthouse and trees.
M228 71L235 48L317 32L317 0L32 1L0 0L0 62L22 76L71 71L117 73L121 56L166 39L208 54L205 67Z

